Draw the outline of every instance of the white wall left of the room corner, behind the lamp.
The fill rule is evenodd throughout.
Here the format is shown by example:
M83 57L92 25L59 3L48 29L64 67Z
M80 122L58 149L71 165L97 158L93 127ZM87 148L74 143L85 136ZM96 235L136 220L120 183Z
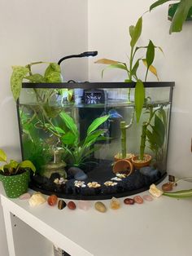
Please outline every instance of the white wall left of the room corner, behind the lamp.
M10 89L11 65L57 62L64 55L87 51L87 0L0 0L0 148L20 158L15 102ZM66 60L64 77L87 80L88 61ZM37 68L38 69L38 68ZM7 256L0 208L0 254Z

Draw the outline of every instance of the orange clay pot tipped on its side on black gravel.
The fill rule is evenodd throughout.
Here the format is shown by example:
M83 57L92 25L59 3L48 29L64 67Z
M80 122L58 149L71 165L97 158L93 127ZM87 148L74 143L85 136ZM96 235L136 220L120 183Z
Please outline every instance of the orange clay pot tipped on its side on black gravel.
M133 165L129 160L120 159L114 163L113 172L130 175L133 173Z

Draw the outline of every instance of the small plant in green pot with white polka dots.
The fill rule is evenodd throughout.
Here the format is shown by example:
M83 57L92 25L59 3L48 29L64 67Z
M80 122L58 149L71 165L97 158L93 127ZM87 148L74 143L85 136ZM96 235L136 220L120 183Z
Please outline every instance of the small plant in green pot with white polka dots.
M7 161L6 153L0 149L0 180L8 197L16 198L28 190L29 170L35 173L36 168L31 161L25 160L20 163L14 160Z

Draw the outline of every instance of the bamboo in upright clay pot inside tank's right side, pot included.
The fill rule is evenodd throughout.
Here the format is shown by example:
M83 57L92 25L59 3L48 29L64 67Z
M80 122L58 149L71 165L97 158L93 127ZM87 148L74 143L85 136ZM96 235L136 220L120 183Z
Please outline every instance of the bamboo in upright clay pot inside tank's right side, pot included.
M163 108L154 108L153 104L146 105L148 120L142 123L142 135L140 142L140 153L132 158L133 166L139 169L151 164L151 155L145 153L146 142L149 143L151 151L155 152L154 161L162 161L164 156L164 138L166 134L166 114ZM161 154L160 154L161 152Z

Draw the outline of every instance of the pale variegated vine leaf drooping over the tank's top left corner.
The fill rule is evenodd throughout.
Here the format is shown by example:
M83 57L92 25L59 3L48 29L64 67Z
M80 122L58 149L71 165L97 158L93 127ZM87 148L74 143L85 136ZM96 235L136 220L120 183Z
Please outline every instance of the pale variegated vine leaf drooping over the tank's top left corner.
M22 66L14 66L13 73L11 74L11 91L15 101L20 96L22 82L24 77L28 74L29 69Z

